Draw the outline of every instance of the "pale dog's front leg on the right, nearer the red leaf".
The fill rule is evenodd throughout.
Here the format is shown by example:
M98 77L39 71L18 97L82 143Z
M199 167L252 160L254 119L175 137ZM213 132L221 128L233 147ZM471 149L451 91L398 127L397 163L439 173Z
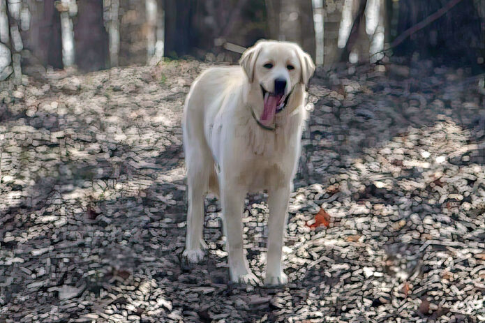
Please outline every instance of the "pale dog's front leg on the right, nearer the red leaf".
M281 253L285 233L290 184L274 188L268 192L268 255L264 285L283 285L288 277L281 268Z

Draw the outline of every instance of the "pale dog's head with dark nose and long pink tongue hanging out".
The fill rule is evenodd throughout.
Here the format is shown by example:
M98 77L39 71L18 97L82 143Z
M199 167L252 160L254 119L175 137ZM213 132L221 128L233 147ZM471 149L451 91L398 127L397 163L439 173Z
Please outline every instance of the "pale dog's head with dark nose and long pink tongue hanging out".
M260 122L265 125L288 105L298 84L299 89L307 87L315 71L310 55L297 44L274 40L258 41L242 54L239 63L251 88L260 89Z

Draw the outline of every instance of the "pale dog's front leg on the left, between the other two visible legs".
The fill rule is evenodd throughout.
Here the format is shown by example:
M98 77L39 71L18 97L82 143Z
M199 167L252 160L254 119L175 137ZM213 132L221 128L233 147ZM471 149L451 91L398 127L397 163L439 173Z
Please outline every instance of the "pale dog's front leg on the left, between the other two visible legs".
M249 269L243 250L242 211L245 196L246 191L240 187L224 185L221 189L230 277L234 283L260 285L260 280Z

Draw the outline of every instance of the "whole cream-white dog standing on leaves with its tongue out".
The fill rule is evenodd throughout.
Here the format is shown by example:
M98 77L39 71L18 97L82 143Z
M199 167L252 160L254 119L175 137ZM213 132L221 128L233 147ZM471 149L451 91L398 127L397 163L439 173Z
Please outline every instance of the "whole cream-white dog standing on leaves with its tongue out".
M221 200L230 278L259 284L243 250L242 212L246 194L267 190L269 236L264 283L288 281L281 249L288 199L300 154L304 100L315 70L294 43L258 41L241 66L209 68L192 84L184 109L188 174L187 237L184 257L199 262L207 248L202 236L204 195Z

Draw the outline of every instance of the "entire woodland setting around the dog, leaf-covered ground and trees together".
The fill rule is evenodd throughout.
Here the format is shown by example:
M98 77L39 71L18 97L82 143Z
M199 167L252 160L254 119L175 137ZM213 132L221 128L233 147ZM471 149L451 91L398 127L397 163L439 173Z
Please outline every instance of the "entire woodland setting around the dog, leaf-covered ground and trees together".
M0 0L0 323L485 322L484 0ZM277 288L221 207L181 258L181 119L260 38L317 70ZM267 195L244 250L262 278Z

